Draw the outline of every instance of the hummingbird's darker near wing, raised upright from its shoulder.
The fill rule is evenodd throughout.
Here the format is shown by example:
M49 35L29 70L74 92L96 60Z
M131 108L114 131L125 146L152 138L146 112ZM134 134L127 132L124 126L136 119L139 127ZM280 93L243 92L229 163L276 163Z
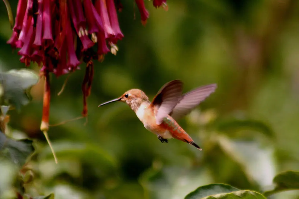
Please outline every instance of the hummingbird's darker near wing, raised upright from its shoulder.
M178 103L178 100L182 97L183 82L180 80L173 80L167 82L162 86L154 97L150 106L157 108L156 123L159 125L162 123L172 109Z

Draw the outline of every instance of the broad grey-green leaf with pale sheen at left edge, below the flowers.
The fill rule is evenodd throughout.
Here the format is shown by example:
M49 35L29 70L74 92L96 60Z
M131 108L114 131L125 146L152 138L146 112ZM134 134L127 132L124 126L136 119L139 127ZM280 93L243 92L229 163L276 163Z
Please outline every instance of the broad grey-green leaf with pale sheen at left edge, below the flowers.
M30 100L30 89L39 80L37 74L29 69L10 70L0 73L1 105L10 104L20 109Z

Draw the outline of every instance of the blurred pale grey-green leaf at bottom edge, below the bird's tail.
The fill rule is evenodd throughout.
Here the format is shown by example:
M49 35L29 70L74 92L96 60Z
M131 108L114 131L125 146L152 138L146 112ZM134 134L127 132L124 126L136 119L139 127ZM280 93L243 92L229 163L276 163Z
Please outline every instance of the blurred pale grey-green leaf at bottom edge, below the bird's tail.
M184 198L198 185L211 183L207 168L184 169L178 166L162 168L162 162L155 161L140 178L148 198Z

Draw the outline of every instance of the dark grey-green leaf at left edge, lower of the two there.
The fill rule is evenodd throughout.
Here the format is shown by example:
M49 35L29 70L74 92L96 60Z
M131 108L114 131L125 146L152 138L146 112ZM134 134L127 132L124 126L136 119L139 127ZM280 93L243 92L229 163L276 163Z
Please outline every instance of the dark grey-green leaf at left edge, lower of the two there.
M0 156L4 156L18 166L23 166L34 151L31 140L13 140L0 131Z

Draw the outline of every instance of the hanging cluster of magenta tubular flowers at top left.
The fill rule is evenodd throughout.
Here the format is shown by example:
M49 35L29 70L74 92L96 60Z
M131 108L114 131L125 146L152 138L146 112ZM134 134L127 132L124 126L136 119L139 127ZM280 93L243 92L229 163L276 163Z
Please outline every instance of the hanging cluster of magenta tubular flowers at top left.
M135 0L142 24L149 13L144 0ZM153 5L167 9L166 0L153 0ZM48 128L50 106L49 73L56 77L79 69L86 63L82 83L83 112L87 115L86 97L93 79L93 61L102 61L108 52L116 54L117 42L124 35L117 19L120 0L19 0L13 33L8 44L20 49L20 61L26 66L37 62L45 78L42 123Z

